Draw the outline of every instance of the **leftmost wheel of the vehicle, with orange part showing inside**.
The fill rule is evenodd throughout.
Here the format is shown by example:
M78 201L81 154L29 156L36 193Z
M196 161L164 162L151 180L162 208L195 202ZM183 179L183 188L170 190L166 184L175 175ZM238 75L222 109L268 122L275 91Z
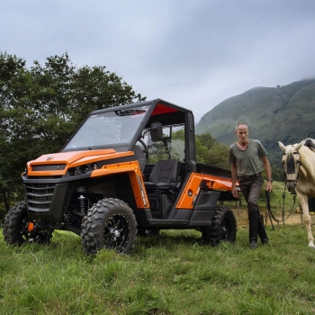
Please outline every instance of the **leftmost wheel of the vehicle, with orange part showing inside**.
M24 243L49 243L52 230L41 229L27 217L25 202L19 202L4 217L4 240L9 245L21 246Z

